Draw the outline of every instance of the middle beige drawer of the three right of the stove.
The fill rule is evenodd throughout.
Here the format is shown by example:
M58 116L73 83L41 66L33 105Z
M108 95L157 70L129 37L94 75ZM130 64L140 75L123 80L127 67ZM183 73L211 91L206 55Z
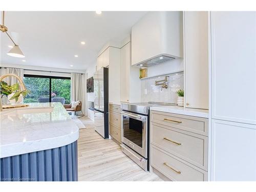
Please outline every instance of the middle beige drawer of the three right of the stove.
M207 170L207 137L157 123L151 126L151 144Z

